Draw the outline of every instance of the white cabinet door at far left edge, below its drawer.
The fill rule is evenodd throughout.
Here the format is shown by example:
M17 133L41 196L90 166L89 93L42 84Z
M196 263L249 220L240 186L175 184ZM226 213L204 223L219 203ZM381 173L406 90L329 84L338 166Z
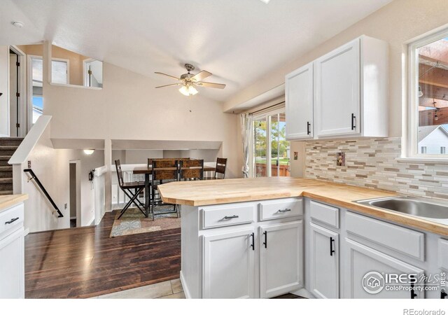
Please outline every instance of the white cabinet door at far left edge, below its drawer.
M0 298L25 298L23 228L0 240Z

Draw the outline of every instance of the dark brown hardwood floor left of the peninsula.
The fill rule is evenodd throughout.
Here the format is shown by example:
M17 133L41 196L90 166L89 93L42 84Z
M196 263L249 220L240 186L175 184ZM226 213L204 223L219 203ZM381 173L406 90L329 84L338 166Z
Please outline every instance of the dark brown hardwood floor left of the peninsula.
M116 212L96 227L25 237L25 297L93 297L179 278L181 229L110 238Z

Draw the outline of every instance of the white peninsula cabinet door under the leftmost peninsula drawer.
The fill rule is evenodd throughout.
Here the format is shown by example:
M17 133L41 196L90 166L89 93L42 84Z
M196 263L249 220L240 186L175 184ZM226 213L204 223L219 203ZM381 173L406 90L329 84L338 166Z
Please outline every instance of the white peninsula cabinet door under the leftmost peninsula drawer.
M203 238L203 298L254 297L254 229Z

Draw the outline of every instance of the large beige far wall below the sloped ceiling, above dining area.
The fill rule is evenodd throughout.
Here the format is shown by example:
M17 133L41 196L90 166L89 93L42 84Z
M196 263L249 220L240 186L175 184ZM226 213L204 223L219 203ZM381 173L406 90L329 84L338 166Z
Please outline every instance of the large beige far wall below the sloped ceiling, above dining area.
M102 90L49 85L44 79L43 111L52 116L51 137L222 141L218 155L228 158L226 176L241 176L237 115L223 113L221 103L200 93L185 97L175 87L155 89L158 85L107 62Z

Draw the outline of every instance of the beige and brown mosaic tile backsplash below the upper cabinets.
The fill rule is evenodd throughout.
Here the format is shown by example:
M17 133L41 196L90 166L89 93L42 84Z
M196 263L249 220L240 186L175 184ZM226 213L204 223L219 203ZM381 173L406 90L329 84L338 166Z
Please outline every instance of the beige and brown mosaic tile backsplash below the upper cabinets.
M337 153L345 166L336 166ZM400 138L309 141L305 176L421 197L448 199L448 165L398 162Z

